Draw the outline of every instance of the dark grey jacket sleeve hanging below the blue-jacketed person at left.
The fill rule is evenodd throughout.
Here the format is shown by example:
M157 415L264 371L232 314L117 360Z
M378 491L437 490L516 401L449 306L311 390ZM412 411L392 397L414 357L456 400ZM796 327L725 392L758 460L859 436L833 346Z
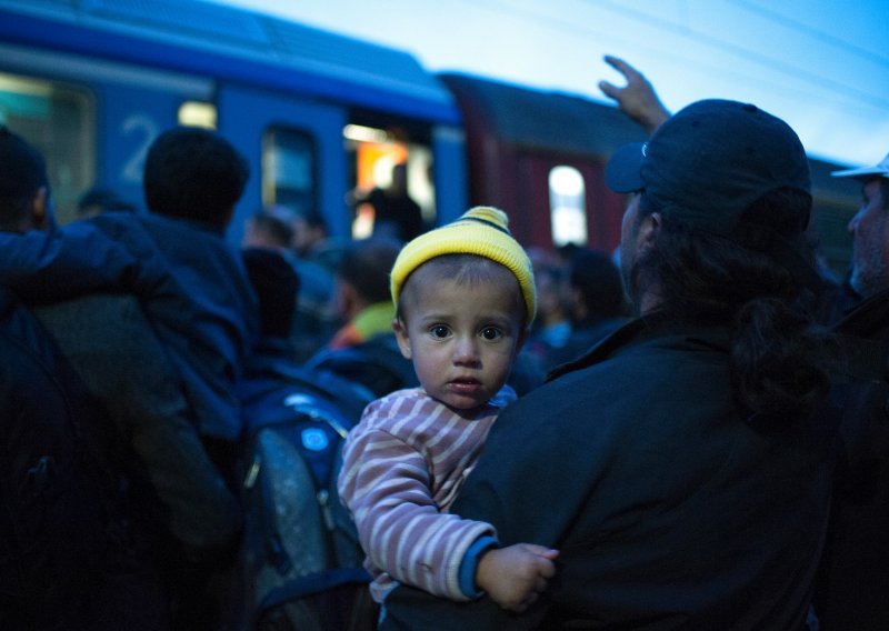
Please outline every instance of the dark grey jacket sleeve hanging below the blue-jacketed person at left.
M192 559L231 545L240 505L201 443L182 380L139 302L99 294L34 312L114 422L127 464L148 487L151 522Z

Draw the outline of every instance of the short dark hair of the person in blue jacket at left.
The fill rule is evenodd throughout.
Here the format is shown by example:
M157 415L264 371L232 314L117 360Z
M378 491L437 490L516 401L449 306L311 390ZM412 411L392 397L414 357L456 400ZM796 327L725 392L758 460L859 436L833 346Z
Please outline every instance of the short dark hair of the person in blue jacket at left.
M221 136L197 127L161 133L148 150L146 204L151 212L224 228L250 174Z

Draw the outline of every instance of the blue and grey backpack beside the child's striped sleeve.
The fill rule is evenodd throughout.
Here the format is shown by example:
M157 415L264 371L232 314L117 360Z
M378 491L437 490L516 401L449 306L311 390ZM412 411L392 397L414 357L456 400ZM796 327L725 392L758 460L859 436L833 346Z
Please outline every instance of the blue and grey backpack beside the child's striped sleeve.
M239 398L251 629L373 629L364 553L337 493L342 441L372 395L333 374L254 359Z

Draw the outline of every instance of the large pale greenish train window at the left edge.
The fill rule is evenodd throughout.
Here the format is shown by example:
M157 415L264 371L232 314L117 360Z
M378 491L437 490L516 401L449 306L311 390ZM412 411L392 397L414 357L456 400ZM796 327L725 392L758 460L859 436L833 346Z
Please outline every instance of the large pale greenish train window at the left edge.
M0 73L0 124L40 151L57 218L73 220L78 198L96 179L92 96L56 81Z

